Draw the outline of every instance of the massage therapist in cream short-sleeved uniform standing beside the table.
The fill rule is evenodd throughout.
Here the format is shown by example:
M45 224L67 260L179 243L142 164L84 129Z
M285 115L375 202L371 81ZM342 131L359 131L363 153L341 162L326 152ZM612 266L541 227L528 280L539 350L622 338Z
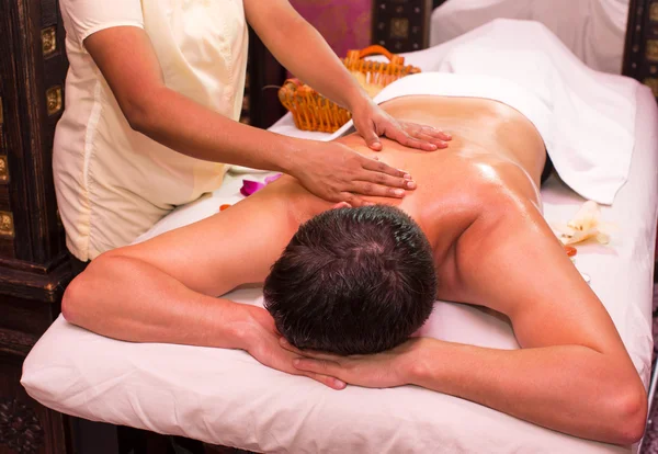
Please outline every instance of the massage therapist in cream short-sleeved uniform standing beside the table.
M396 122L365 94L286 0L60 0L70 69L54 173L67 246L81 261L127 245L222 184L225 163L281 171L327 201L401 196L404 171L333 143L237 122L247 23L293 73L378 136L423 150L433 128Z

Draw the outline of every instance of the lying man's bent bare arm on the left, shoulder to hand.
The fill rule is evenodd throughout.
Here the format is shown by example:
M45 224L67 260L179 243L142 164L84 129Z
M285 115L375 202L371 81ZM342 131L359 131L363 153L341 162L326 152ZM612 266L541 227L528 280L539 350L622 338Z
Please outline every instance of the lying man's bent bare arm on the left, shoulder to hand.
M65 318L120 340L242 349L270 367L299 374L294 355L280 349L266 310L215 297L262 282L295 232L295 213L304 209L295 201L310 195L291 180L196 224L100 256L67 287Z

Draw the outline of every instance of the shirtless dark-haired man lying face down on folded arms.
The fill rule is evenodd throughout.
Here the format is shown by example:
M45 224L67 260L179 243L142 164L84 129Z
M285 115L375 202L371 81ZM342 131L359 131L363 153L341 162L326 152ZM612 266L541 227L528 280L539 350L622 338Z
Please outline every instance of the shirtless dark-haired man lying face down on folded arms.
M389 206L337 206L283 177L95 259L67 288L65 317L116 339L243 349L337 389L413 384L572 435L637 441L642 381L541 213L541 118L479 98L405 95L383 107L453 136L436 152L383 141L373 155L413 177L399 198L365 201ZM337 141L372 152L353 135ZM361 193L388 191L361 183ZM217 298L263 282L271 314ZM506 315L521 349L408 339L435 298Z

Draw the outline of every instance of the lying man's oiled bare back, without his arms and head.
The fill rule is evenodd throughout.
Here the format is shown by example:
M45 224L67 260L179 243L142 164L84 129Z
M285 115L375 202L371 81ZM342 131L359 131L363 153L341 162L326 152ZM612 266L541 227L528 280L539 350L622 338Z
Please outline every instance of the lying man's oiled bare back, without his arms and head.
M443 269L454 268L454 263L445 260L446 252L481 211L491 208L483 206L483 196L490 197L491 192L501 191L506 196L541 206L544 143L533 124L514 109L491 100L446 97L404 97L388 101L383 109L402 121L444 127L453 136L449 149L434 154L410 150L385 138L383 151L372 151L356 134L337 139L413 175L417 188L401 200L363 198L397 206L419 224L434 251L440 277L445 277ZM481 191L488 193L480 194ZM332 206L304 191L290 177L269 185L260 195L271 194L285 200L284 209L295 216L288 239L299 224ZM251 203L258 204L258 209L266 209L256 197ZM263 279L268 272L269 266L263 270ZM454 291L447 291L443 285L438 296L452 299Z

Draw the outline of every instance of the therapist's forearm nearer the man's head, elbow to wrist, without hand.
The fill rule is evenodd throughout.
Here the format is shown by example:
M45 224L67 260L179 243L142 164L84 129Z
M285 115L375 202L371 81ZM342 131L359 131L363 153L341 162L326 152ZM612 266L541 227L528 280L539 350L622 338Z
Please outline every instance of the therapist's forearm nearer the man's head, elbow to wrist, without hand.
M235 122L166 87L126 115L134 129L183 155L290 172L291 156L313 145Z

